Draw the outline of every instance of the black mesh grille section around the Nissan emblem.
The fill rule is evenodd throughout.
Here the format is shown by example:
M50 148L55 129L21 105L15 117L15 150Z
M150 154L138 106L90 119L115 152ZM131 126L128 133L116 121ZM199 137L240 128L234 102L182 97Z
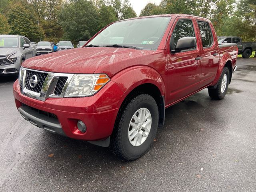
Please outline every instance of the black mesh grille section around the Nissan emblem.
M36 87L31 88L29 85L29 80L30 78L36 75L38 77L38 84L36 85ZM36 93L40 93L44 84L44 81L46 79L47 73L40 73L40 72L35 72L35 71L29 71L27 70L26 72L26 78L25 78L25 86L26 89L36 92Z

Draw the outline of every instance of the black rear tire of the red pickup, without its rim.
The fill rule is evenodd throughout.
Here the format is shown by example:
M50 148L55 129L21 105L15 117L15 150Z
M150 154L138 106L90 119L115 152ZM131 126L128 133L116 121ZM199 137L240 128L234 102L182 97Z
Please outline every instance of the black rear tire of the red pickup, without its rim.
M226 88L224 90L224 92L221 92L221 84L222 84L222 79L224 77L224 74L226 74L227 77L227 82L226 82ZM225 97L227 90L228 90L228 84L229 84L229 70L227 67L224 67L222 70L222 74L220 76L220 79L218 80L218 84L217 84L217 88L213 89L213 88L209 88L208 89L208 93L210 98L214 99L214 100L221 100Z

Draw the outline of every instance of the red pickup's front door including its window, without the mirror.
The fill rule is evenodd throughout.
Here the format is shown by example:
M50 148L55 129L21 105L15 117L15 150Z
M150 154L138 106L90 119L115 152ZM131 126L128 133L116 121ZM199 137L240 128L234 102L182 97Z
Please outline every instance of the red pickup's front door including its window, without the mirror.
M174 22L170 42L170 50L174 50L178 39L182 37L196 37L195 22L189 18L178 18ZM182 50L168 54L168 90L170 103L176 102L200 88L201 78L200 48Z

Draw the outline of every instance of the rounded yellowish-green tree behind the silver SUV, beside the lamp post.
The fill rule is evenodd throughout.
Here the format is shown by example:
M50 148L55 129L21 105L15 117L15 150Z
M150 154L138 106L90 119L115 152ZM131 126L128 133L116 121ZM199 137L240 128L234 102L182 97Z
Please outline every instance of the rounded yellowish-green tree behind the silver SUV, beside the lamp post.
M44 30L38 28L36 14L28 9L28 4L23 2L11 3L6 12L6 18L10 25L10 34L23 35L31 41L37 41L44 37Z

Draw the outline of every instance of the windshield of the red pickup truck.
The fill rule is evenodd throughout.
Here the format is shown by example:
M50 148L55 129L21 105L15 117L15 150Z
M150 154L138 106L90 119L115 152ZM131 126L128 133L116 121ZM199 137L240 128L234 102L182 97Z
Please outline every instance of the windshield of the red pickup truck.
M113 23L92 39L92 45L126 45L156 50L170 22L170 17L125 20Z

